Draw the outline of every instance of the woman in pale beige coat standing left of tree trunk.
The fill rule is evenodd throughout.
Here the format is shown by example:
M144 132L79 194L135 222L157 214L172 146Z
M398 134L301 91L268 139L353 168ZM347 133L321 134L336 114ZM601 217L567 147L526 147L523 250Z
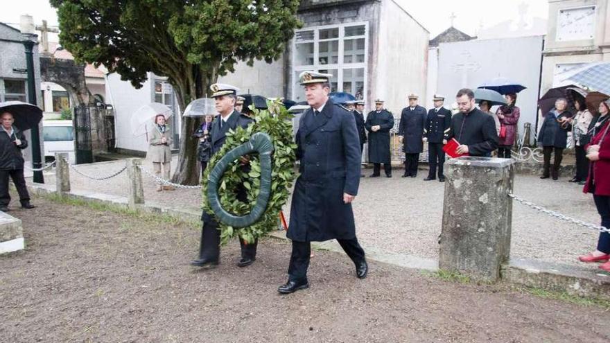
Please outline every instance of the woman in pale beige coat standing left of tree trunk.
M169 179L169 172L171 170L171 130L169 130L169 126L165 123L165 116L163 114L157 114L155 116L155 125L153 128L153 132L150 134L150 140L148 141L150 144L148 146L148 153L146 157L148 157L151 161L153 161L153 169L155 170L155 174L157 177L161 177L162 179ZM161 176L161 170L163 167L163 176ZM173 186L164 186L162 183L159 183L159 188L157 191L163 191L164 189L168 191L173 191Z

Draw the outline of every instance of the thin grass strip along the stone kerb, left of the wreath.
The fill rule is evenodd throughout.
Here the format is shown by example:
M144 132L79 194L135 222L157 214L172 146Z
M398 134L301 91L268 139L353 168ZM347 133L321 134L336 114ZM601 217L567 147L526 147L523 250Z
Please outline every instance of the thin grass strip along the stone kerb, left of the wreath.
M74 197L65 197L60 196L56 193L49 193L45 195L40 195L44 197L46 200L50 200L51 202L55 202L57 204L65 204L69 206L84 206L94 211L101 212L113 212L118 213L123 216L130 216L134 218L138 218L144 220L146 222L163 222L168 223L170 225L179 225L186 224L192 227L200 227L201 223L198 220L186 220L184 218L178 218L176 216L171 216L167 213L151 213L147 211L142 211L141 209L130 209L127 206L120 206L115 204L106 204L98 201L91 200L83 200ZM127 228L123 228L127 229Z

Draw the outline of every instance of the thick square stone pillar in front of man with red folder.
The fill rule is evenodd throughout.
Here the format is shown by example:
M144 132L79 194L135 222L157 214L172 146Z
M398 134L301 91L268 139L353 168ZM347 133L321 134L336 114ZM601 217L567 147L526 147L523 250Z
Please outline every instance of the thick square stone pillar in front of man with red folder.
M460 157L445 175L439 268L497 281L510 254L514 160Z

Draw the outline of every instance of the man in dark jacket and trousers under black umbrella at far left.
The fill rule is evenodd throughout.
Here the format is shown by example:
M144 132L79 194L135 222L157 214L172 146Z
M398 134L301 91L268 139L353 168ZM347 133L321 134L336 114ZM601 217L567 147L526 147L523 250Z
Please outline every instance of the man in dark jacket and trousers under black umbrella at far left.
M21 150L28 147L28 141L23 132L12 126L15 122L12 114L3 112L0 114L2 121L0 130L0 211L8 211L10 195L8 194L8 177L17 188L19 202L24 209L33 209L30 204L30 194L24 178L24 157Z

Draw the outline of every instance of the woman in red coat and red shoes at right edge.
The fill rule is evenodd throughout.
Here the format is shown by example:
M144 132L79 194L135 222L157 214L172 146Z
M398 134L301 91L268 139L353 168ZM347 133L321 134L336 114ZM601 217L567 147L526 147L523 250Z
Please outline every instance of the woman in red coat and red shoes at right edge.
M586 158L591 161L584 193L593 193L595 206L602 217L602 227L610 229L610 100L600 104L600 116L592 128ZM600 232L598 249L579 257L582 262L605 262L602 270L610 272L610 233Z

